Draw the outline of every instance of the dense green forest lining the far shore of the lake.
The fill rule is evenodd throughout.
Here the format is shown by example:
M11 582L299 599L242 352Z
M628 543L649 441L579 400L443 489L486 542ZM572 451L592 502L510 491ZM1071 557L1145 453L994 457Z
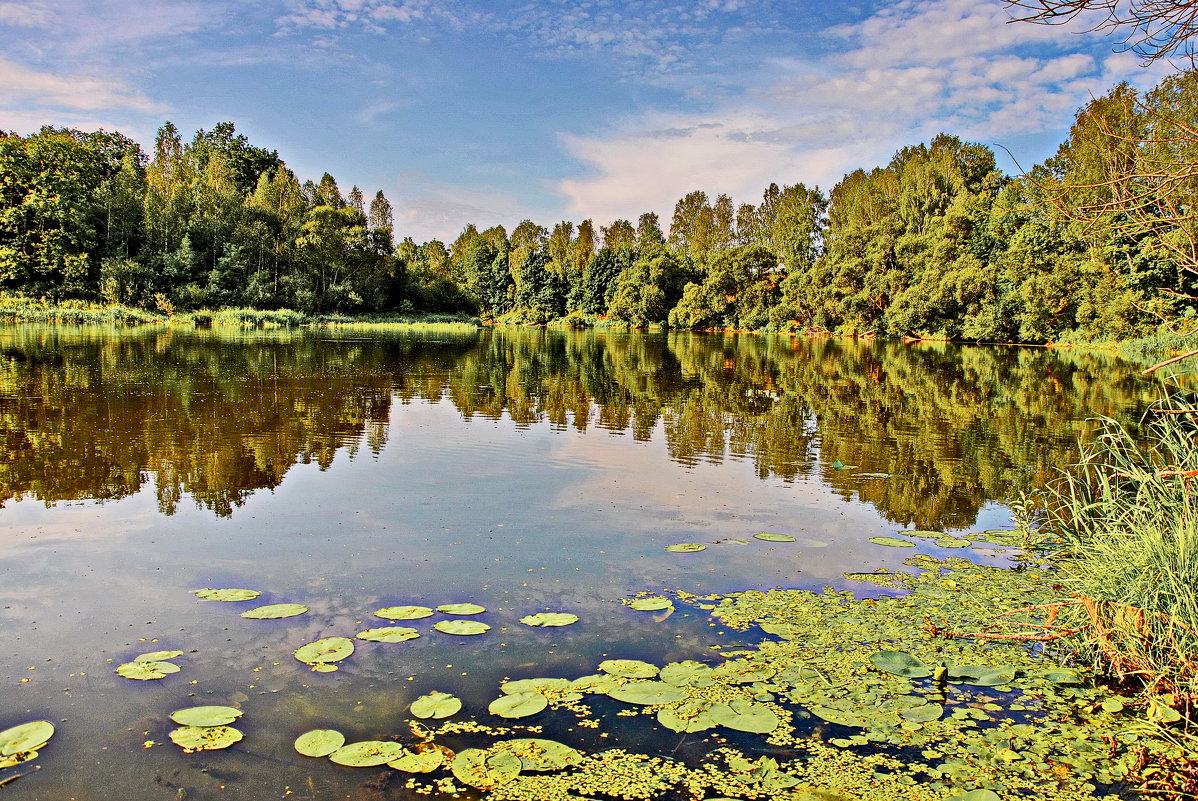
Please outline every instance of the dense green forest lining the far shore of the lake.
M164 312L459 311L509 323L1084 341L1194 315L1198 73L1119 85L1010 177L942 134L829 194L682 198L605 226L393 231L391 202L302 182L232 123L153 150L119 133L0 132L0 290ZM1162 177L1163 176L1163 177ZM1162 192L1162 187L1164 192ZM1148 199L1148 200L1145 200ZM1187 255L1188 254L1188 255ZM1187 261L1188 260L1188 261Z

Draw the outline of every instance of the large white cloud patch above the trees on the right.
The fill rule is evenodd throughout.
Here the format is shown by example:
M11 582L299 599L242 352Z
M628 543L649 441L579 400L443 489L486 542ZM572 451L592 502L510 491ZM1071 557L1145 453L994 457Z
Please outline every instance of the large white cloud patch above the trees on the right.
M1100 37L1008 19L998 0L902 0L828 30L843 49L827 61L767 62L767 77L736 99L564 136L588 174L557 189L573 214L597 219L646 210L668 219L696 188L738 202L770 181L827 192L846 171L942 131L988 142L1063 133L1091 93L1129 75L1155 83L1133 56L1099 63L1077 51Z

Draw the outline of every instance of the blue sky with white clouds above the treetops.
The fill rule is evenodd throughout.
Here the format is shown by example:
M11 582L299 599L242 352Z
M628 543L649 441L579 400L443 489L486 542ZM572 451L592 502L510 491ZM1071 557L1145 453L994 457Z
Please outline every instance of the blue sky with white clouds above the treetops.
M999 0L0 0L0 129L149 147L231 120L301 176L383 189L399 236L606 225L692 189L824 190L940 131L1002 165L1155 84L1084 24Z

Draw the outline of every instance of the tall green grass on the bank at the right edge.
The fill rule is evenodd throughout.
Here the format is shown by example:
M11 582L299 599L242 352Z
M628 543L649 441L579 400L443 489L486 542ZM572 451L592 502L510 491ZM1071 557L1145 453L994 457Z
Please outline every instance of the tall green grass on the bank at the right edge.
M1089 615L1084 647L1185 714L1198 702L1198 399L1172 394L1148 415L1143 445L1101 420L1052 489L1048 524L1071 548L1061 568Z

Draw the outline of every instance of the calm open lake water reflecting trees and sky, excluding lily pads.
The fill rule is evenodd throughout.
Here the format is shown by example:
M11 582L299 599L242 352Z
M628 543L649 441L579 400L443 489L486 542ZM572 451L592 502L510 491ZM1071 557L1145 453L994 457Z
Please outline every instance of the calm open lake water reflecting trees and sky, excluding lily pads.
M1006 524L1003 502L1072 460L1087 418L1133 421L1152 393L1130 365L1033 348L0 328L0 729L58 726L41 770L0 771L25 773L0 795L417 797L401 782L363 788L375 771L291 742L311 728L399 733L431 690L494 723L485 706L506 678L574 678L606 657L714 662L752 635L619 599L845 587L845 571L909 556L870 536ZM762 530L799 541L751 539ZM673 542L708 547L665 552ZM311 611L244 620L250 605L199 601L204 587ZM382 606L458 601L486 606L492 630L401 624L424 636L358 643L331 674L290 655L387 625L371 615ZM518 623L540 611L581 621ZM113 673L158 649L186 651L182 670ZM200 703L244 709L244 741L171 745L168 715ZM647 718L610 721L605 739L569 715L531 722L583 748L678 740ZM690 740L674 757L708 747Z

